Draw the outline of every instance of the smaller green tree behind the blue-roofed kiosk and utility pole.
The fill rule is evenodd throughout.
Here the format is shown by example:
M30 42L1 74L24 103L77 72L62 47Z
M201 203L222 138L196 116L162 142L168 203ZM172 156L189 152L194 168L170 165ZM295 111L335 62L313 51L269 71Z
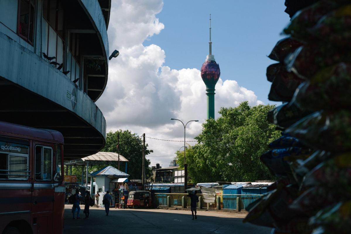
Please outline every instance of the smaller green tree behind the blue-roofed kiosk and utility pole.
M127 174L129 179L141 179L141 168L143 167L143 141L135 133L131 133L129 130L119 130L117 132L108 132L106 135L106 145L101 150L102 152L114 152L117 153L118 145L118 133L119 133L119 154L123 155L129 160L127 163ZM147 149L148 145L145 144L145 155L152 153L151 149ZM145 177L149 179L152 175L152 170L149 167L150 160L145 157ZM120 162L123 165L123 162ZM92 166L89 167L89 172L97 171L105 166L113 166L118 168L118 162L108 163L106 165ZM121 171L124 171L124 167L120 167Z

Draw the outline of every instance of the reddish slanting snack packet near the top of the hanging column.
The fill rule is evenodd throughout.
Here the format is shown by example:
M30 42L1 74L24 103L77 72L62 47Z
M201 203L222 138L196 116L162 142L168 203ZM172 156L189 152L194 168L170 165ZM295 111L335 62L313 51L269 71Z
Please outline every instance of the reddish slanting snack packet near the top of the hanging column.
M321 0L302 9L291 18L289 25L284 28L283 32L298 39L308 38L307 29L316 25L325 14L339 7L339 2L343 1Z

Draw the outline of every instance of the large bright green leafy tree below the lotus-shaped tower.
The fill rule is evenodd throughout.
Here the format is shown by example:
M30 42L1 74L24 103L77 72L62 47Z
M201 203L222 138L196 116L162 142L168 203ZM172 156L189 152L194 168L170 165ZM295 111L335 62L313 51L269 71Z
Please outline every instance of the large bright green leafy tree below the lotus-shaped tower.
M250 107L242 102L235 108L221 108L221 116L203 123L198 143L186 150L188 175L193 182L254 181L274 179L260 161L268 144L280 131L266 120L274 105ZM183 167L184 152L176 152Z

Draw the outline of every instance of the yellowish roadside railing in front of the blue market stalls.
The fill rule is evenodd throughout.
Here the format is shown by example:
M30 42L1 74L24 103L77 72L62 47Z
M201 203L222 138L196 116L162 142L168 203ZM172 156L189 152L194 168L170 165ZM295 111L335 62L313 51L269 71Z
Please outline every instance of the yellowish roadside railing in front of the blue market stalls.
M187 193L155 193L155 205L161 207L190 208ZM199 209L246 210L261 194L197 194Z

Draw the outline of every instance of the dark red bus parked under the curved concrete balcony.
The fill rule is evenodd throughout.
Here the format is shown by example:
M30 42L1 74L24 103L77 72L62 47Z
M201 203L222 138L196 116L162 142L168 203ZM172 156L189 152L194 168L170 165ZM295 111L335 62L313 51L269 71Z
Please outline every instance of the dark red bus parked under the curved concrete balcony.
M0 233L62 233L60 132L0 121Z

